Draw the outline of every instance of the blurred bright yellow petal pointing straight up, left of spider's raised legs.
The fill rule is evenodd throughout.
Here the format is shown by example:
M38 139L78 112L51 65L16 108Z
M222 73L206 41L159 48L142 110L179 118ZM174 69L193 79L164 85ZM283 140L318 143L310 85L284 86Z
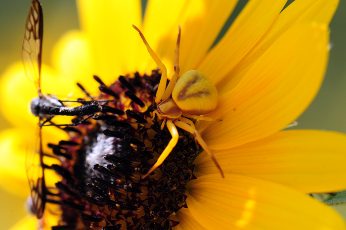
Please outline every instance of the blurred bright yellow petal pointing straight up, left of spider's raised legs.
M80 21L90 38L97 75L111 82L136 70L138 33L132 24L141 25L140 0L78 0Z

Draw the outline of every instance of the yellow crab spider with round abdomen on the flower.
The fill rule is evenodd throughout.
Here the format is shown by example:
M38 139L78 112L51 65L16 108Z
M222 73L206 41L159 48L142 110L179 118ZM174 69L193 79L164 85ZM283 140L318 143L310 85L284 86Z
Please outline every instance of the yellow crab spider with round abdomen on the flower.
M132 25L133 28L138 31L142 38L145 46L148 49L149 54L154 59L159 69L162 71L159 87L155 96L155 102L157 104L156 111L153 112L153 118L155 115L160 120L163 120L161 124L161 130L164 129L165 125L172 135L172 139L168 143L167 147L161 153L156 163L151 167L147 174L142 178L147 177L157 167L159 167L164 160L171 153L172 149L178 142L179 134L176 130L176 126L193 134L195 140L201 145L201 147L208 153L208 155L214 161L216 167L220 171L222 177L223 172L217 163L213 153L209 149L206 142L202 139L201 135L195 128L193 122L187 118L199 119L204 121L221 121L209 117L202 117L199 115L207 114L216 108L218 94L216 87L203 73L196 70L190 70L180 76L179 79L179 45L180 45L180 26L179 34L176 42L175 56L174 56L174 74L171 78L170 83L166 88L167 83L167 68L161 62L156 53L147 43L144 35L140 30ZM172 97L170 97L172 95ZM186 118L187 117L187 118Z

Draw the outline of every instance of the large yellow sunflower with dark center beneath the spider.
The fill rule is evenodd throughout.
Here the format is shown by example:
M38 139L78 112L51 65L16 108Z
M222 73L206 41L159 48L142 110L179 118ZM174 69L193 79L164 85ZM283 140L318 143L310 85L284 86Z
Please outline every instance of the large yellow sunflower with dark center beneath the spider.
M44 151L49 142L55 144L50 145L55 153L63 149L70 156L58 156L61 161L51 167L62 177L54 179L53 170L45 170L48 189L56 180L60 183L59 195L50 198L59 204L47 202L39 222L26 218L13 230L346 229L333 209L306 195L346 188L346 136L282 131L302 114L322 83L329 55L328 24L339 1L296 0L281 11L286 0L250 0L211 48L236 3L149 0L142 19L139 0L78 1L82 30L66 34L55 46L54 66L43 65L43 92L66 96L78 91L78 82L95 95L101 85L98 99L118 95L117 108L132 111L118 112L116 118L104 115L122 122L107 121L108 126L100 114L75 130L43 127ZM161 121L151 122L161 72L132 24L168 67L169 78L180 25L180 73L204 73L219 95L216 109L206 116L222 121L197 120L195 126L224 178L182 130L167 160L140 178L171 136L167 128L160 131ZM125 77L117 81L120 75ZM0 134L0 150L6 153L0 183L28 196L26 143L38 118L27 113L27 104L37 93L20 62L7 69L0 86L1 110L16 127ZM13 88L21 93L13 94ZM144 105L125 94L127 90ZM106 128L110 131L103 132ZM69 142L57 145L59 140ZM112 151L117 158L108 157L105 163L104 153ZM101 154L90 157L95 152ZM51 161L44 159L49 166Z

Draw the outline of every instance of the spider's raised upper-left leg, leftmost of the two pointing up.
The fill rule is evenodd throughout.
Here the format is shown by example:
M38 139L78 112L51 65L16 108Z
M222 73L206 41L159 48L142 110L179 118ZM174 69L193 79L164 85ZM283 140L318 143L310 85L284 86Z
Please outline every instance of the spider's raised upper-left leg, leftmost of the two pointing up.
M147 50L148 50L150 56L154 59L154 61L156 62L157 66L159 67L159 69L162 70L162 75L161 75L161 80L160 80L159 88L157 89L156 96L155 96L155 102L156 102L156 104L158 104L161 101L162 96L164 95L164 92L165 92L165 89L166 89L166 84L167 84L167 68L164 65L164 63L162 63L160 58L156 55L154 50L149 46L149 44L145 40L144 35L142 34L142 32L140 32L140 30L135 25L132 25L132 27L136 31L138 31L140 37L142 38L142 40L144 42L144 45L147 47Z

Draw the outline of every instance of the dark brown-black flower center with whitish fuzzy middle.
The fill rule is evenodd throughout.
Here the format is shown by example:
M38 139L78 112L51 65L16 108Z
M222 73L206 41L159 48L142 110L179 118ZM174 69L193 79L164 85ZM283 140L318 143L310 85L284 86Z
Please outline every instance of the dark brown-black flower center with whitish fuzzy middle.
M97 99L112 102L102 105L106 112L67 127L70 140L53 147L66 150L66 160L51 166L63 177L56 184L61 224L53 229L171 229L178 224L172 215L187 208L185 184L196 179L192 159L200 146L178 129L171 154L143 179L171 139L162 121L152 120L161 74L121 76L110 87L94 78L102 92Z

